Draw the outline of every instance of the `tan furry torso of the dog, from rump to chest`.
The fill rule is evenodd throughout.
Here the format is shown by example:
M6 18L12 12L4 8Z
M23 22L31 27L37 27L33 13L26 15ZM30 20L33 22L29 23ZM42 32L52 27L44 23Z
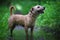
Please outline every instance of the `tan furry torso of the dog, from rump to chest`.
M11 17L9 18L9 24L12 26L13 23L17 23L19 25L23 24L26 25L26 27L28 27L30 25L31 26L34 25L35 19L36 18L32 17L30 14L28 15L15 14L15 15L11 15Z

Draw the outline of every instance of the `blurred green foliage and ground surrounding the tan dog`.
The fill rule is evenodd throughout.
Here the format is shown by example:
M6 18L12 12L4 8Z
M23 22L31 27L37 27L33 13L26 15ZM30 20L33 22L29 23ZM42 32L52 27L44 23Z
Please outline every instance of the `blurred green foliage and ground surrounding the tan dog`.
M17 10L25 15L31 7L37 4L45 6L46 9L44 14L39 15L36 19L34 40L60 40L59 0L0 0L0 40L8 40L10 5L14 5ZM25 40L25 35L23 28L15 28L13 31L14 40Z

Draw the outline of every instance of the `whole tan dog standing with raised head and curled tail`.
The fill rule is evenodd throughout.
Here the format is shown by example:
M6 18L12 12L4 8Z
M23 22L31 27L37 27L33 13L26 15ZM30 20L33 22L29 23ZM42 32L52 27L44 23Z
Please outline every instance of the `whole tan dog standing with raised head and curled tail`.
M28 28L31 28L31 38L33 40L33 29L36 18L39 14L44 13L45 7L41 5L33 6L27 15L22 14L12 14L13 6L10 7L10 17L8 19L8 26L10 29L10 36L12 37L12 32L16 25L21 25L24 27L26 32L26 40L28 40Z

